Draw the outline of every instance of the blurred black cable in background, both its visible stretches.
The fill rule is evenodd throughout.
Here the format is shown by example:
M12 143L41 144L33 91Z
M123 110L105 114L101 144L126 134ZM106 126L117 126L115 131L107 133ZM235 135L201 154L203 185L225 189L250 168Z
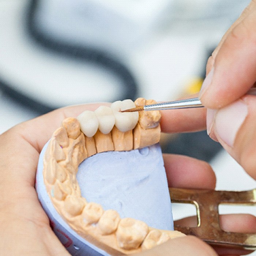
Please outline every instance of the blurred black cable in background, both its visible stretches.
M90 46L75 46L71 44L66 44L61 41L58 41L55 38L49 37L49 35L44 34L36 27L36 15L38 9L39 0L31 0L29 8L27 10L26 19L26 31L28 35L34 39L34 41L47 48L52 50L54 53L61 54L67 58L72 58L76 60L86 61L87 63L96 64L99 67L103 67L114 75L116 75L121 80L122 95L121 98L114 98L115 100L123 99L136 99L137 94L137 83L132 73L121 61L114 59L107 52L100 51ZM25 92L14 89L7 82L1 81L0 79L0 90L7 97L15 100L17 103L30 108L31 110L37 112L38 114L47 113L53 109L56 109L58 106L49 105L39 100L33 98L33 96L26 95Z

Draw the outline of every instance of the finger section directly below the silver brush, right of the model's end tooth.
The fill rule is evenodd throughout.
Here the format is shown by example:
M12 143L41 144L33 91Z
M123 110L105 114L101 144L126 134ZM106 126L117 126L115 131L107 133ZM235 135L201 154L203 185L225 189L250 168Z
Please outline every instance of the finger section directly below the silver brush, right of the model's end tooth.
M162 132L196 132L206 128L206 109L172 109L161 111Z

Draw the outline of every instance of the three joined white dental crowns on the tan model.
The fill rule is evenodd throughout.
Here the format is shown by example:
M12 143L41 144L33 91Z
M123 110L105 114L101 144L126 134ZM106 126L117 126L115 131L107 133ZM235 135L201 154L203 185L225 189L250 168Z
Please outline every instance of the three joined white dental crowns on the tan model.
M135 103L131 99L125 99L113 102L110 107L100 106L95 111L86 110L77 117L80 129L89 138L93 137L98 129L103 134L108 134L114 125L121 132L130 131L138 123L139 113L122 113L120 110L135 107Z

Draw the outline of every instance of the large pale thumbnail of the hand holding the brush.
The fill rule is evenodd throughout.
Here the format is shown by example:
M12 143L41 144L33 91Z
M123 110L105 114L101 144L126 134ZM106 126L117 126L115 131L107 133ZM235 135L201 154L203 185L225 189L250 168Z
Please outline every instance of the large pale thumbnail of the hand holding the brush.
M248 114L247 105L238 100L218 110L214 118L214 133L224 143L233 147L237 132Z

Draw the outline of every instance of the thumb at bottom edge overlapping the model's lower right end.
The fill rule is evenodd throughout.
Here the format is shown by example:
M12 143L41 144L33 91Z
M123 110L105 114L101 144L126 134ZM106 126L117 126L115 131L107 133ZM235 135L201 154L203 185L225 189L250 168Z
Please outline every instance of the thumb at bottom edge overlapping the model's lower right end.
M170 239L138 256L217 256L215 251L200 239L192 236Z

